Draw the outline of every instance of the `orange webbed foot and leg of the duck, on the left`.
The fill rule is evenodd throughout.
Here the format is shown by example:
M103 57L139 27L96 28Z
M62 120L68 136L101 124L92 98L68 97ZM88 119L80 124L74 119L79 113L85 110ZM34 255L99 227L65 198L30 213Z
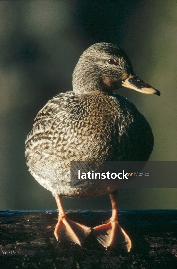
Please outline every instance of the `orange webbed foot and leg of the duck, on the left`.
M91 228L68 219L61 204L61 197L55 196L55 200L58 206L58 223L54 232L57 241L72 241L81 246Z

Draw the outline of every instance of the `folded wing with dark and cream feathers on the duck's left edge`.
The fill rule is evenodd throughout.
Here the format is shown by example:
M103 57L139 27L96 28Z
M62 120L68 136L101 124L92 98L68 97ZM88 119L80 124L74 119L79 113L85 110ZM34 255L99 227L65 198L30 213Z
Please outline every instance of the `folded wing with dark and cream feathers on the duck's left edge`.
M35 160L35 158L32 158L33 154L41 156L45 149L52 148L56 128L55 123L59 120L61 126L65 126L65 121L69 116L67 108L70 103L73 103L74 99L77 99L77 96L73 91L57 94L39 111L34 120L32 131L25 141L27 162L30 159ZM58 136L60 132L58 132Z

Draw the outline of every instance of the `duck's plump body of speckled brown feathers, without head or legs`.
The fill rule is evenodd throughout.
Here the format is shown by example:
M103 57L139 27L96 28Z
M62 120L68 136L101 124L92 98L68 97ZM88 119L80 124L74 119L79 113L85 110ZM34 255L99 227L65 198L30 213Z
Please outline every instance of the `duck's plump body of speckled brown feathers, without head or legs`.
M70 161L143 161L153 150L145 117L114 94L56 95L35 118L26 139L29 171L53 195L91 197L113 189L71 189Z

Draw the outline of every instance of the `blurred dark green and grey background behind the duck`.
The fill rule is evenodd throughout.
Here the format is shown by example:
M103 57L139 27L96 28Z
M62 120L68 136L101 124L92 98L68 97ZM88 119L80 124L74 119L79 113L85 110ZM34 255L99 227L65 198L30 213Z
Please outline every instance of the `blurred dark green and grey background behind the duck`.
M0 208L56 209L27 170L24 141L38 111L72 90L85 49L110 42L161 92L117 90L150 123L150 161L177 161L177 1L0 1ZM167 179L168 180L168 179ZM176 209L176 189L120 189L119 209ZM111 209L109 196L63 197L64 209Z

